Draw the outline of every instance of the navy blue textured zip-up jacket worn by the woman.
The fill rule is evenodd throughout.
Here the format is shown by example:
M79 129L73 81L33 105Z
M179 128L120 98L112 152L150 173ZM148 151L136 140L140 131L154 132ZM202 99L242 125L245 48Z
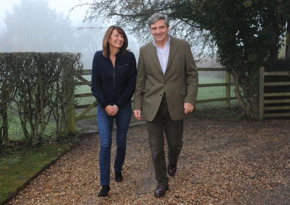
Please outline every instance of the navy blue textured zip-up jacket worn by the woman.
M110 54L108 54L110 56ZM112 102L116 96L116 104L123 107L135 91L137 76L136 59L132 52L123 55L119 51L116 55L115 68L109 57L103 56L103 51L95 53L92 65L92 93L102 107Z

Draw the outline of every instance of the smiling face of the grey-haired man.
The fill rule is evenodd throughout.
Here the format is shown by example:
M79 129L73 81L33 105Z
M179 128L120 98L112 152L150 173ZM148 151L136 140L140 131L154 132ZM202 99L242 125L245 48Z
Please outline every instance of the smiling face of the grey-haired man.
M151 24L150 30L154 39L156 40L157 45L164 45L166 41L168 41L169 26L167 28L164 19L159 19L155 23Z

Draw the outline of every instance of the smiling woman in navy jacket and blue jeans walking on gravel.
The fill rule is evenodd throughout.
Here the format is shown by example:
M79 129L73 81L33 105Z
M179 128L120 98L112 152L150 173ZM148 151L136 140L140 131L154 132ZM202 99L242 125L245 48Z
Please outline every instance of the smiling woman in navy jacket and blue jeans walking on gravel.
M110 191L112 127L117 125L117 151L114 162L115 181L123 180L127 131L132 114L131 98L137 76L136 60L127 50L128 39L119 26L110 26L103 39L103 50L97 51L92 66L92 93L98 100L98 129L101 138L100 173L102 189L98 197Z

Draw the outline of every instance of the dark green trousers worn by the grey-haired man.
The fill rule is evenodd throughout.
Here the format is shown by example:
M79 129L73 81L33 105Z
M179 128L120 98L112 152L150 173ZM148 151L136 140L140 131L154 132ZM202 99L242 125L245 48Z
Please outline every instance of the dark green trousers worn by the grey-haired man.
M173 121L171 119L166 96L163 96L153 121L146 121L146 124L158 186L168 186L163 133L165 133L168 144L168 161L170 164L176 164L182 148L183 120Z

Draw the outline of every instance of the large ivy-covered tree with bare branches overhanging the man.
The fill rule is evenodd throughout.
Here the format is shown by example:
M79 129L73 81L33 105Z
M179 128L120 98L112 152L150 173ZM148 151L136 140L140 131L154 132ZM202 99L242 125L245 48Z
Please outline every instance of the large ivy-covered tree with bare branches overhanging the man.
M171 34L195 45L195 56L203 57L214 42L220 64L235 78L244 114L258 117L259 67L278 57L289 0L94 0L82 5L89 6L85 20L114 18L141 44L152 38L147 19L156 12L168 14Z

